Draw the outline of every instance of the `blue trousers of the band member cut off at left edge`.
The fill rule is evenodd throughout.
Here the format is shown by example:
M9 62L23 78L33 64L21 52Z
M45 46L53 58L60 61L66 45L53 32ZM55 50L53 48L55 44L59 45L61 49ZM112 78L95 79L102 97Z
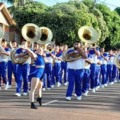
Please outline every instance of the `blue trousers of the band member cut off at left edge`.
M1 77L3 78L3 83L7 84L7 62L1 62L0 63L0 87L1 87Z

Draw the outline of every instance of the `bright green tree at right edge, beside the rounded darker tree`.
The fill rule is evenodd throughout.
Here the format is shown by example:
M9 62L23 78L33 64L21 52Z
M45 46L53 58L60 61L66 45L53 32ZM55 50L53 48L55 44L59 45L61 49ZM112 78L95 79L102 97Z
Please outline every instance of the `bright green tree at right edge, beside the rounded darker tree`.
M120 44L120 17L115 11L103 4L96 6L103 14L106 26L108 27L108 36L101 45L105 44L106 49L114 48Z

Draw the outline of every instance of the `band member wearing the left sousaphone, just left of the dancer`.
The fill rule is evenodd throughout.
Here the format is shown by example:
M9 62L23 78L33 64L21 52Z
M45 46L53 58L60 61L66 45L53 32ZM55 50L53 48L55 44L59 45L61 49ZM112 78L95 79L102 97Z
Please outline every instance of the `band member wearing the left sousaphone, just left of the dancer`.
M27 41L22 40L21 43L22 47L27 46ZM24 57L27 53L23 48L19 48L16 51L16 59L20 57ZM23 95L26 96L28 94L28 75L30 72L30 63L31 63L31 58L29 58L25 63L23 64L18 64L17 70L16 70L16 78L17 78L17 87L16 87L16 96L20 97L21 96L21 86L22 86L22 80L23 80Z

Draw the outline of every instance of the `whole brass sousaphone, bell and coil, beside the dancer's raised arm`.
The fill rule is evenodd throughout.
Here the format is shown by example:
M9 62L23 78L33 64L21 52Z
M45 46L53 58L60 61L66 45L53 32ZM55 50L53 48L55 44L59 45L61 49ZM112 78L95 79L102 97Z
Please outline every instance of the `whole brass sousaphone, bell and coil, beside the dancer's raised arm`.
M41 33L40 33L40 30L39 30L39 27L33 23L28 23L28 24L25 24L23 27L22 27L22 36L23 38L26 40L26 41L29 41L29 42L36 42L40 39L41 37ZM19 48L22 48L22 46L18 46L18 48L14 49L12 52L11 52L11 60L13 63L15 64L23 64L25 63L28 58L29 58L29 55L26 54L24 57L21 57L21 58L15 58L15 54L16 54L16 51L19 49Z

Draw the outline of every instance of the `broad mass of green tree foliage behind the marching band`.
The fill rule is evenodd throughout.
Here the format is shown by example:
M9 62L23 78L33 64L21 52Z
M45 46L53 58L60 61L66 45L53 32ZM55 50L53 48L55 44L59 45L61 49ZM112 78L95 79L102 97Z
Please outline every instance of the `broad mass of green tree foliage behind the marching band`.
M18 28L26 23L49 27L57 44L72 46L80 40L78 30L82 26L93 26L99 34L99 45L109 49L120 44L120 16L118 10L111 11L104 4L94 0L70 0L48 7L40 2L27 2L11 8ZM114 22L113 22L114 21Z

